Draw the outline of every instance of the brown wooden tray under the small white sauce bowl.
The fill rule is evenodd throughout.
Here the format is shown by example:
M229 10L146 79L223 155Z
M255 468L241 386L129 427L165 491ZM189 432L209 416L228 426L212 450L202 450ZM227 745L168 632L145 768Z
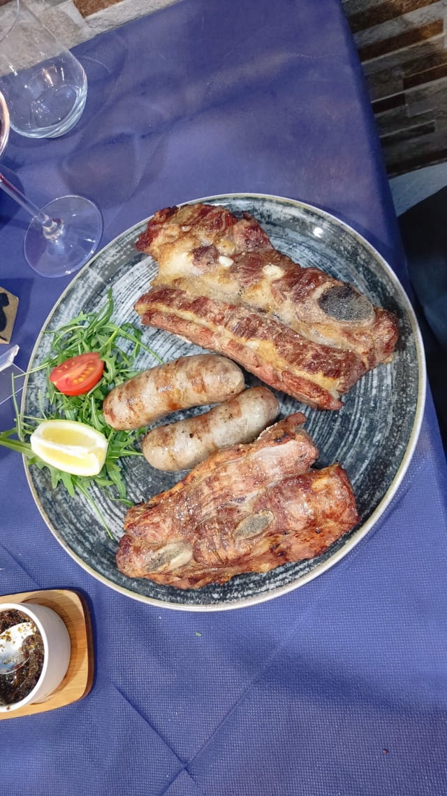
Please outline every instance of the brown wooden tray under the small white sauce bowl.
M0 712L0 720L62 708L86 696L93 684L94 655L90 613L84 597L70 589L45 589L4 595L0 597L0 605L2 603L39 603L56 611L67 626L72 656L64 680L45 702L26 704L11 712Z

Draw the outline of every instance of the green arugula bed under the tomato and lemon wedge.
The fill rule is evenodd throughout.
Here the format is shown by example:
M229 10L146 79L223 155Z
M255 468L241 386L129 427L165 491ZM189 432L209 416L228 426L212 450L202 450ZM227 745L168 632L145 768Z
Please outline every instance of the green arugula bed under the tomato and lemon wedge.
M138 373L138 369L135 369L135 361L142 350L148 351L157 363L162 362L157 353L143 344L142 330L136 329L129 322L118 326L112 321L113 312L114 301L110 289L107 291L107 300L104 306L98 312L85 313L81 311L76 318L72 318L56 331L45 332L45 334L52 334L49 356L41 365L29 371L29 373L35 373L38 370L46 370L45 395L40 393L38 396L41 416L22 416L14 395L15 426L10 431L0 432L0 445L25 455L29 464L49 469L53 489L61 484L71 497L76 492L83 494L95 509L99 520L106 529L107 524L95 505L89 487L91 484L95 484L106 491L110 500L119 501L126 506L131 505L126 498L126 483L122 477L120 460L126 456L142 456L141 451L138 450L138 441L145 429L115 431L104 420L103 400L112 387L122 384L123 381L129 380ZM122 341L132 344L130 352L120 347L119 343ZM49 374L56 365L87 351L99 353L99 357L104 362L103 377L84 395L65 396L54 387L49 380ZM47 401L49 408L44 409ZM31 451L27 439L43 419L78 420L101 431L107 438L108 447L106 460L99 475L92 477L71 475L42 462ZM109 529L107 532L110 534Z

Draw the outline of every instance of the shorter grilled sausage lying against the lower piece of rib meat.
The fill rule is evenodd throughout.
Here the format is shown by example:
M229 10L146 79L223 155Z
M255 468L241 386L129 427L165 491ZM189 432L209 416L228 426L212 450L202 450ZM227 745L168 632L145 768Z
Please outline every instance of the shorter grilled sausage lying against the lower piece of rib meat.
M266 387L254 387L199 415L149 431L142 452L157 470L189 470L228 445L251 443L278 415Z

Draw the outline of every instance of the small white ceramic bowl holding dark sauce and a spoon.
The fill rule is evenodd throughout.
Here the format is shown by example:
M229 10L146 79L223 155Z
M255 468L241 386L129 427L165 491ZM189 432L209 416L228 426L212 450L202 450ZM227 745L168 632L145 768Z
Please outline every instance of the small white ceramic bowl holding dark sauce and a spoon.
M68 669L71 642L67 627L56 611L37 603L2 603L2 611L21 611L29 616L41 634L44 643L44 663L34 688L19 702L0 704L0 712L23 708L26 704L45 702L63 681Z

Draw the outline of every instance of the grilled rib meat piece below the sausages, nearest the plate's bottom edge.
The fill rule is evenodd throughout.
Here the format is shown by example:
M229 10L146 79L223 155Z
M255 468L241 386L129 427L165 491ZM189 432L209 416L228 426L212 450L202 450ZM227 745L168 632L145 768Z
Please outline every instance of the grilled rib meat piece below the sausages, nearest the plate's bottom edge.
M254 443L213 454L186 478L126 513L119 570L177 588L319 556L358 521L352 486L318 451L301 412Z

